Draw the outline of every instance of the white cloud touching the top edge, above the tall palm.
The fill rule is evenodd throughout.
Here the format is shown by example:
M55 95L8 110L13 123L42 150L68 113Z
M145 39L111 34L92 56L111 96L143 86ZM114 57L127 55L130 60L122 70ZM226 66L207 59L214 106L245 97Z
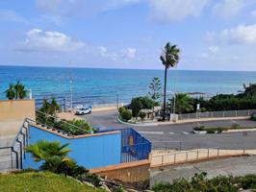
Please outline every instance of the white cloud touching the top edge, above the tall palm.
M178 21L198 16L209 0L149 0L152 17L160 22Z

